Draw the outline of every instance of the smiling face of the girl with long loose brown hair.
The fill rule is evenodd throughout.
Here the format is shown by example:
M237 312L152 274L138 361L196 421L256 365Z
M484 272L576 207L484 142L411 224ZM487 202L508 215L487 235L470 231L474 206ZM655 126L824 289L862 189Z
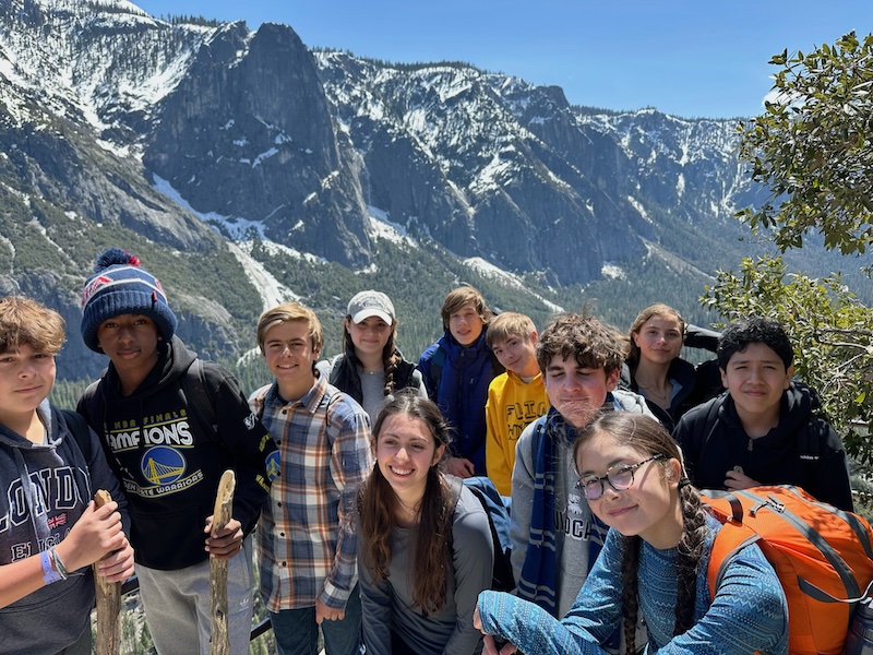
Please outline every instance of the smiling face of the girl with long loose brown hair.
M424 496L428 472L442 458L445 446L420 418L393 414L382 422L375 437L379 471L397 497L415 507Z

